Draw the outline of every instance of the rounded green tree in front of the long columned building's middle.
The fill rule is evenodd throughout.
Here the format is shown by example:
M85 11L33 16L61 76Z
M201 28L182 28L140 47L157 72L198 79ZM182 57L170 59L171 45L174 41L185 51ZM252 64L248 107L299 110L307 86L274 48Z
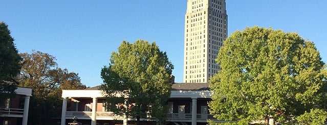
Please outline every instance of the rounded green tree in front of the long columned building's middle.
M119 115L163 120L170 96L173 65L155 42L123 41L113 52L109 66L101 70L108 110Z

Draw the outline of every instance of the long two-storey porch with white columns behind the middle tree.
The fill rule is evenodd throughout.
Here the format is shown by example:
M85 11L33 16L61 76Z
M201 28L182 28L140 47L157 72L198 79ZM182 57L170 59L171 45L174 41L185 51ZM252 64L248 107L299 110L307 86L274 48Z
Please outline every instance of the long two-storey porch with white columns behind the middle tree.
M207 106L211 95L212 91L209 90L171 90L170 98L167 101L171 107L166 121L194 125L205 124L207 119L214 120L208 113ZM132 117L125 118L105 111L103 108L105 98L100 90L62 90L62 98L62 125L67 124L74 116L83 121L87 120L87 124L92 125L107 124L106 122L127 124L127 122L136 120ZM140 120L156 122L154 118L141 118Z

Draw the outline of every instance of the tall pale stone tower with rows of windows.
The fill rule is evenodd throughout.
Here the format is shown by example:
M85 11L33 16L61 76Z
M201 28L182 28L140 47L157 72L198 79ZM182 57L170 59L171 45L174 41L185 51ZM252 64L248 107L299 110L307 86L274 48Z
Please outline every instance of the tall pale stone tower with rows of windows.
M221 69L215 59L226 37L225 0L187 1L183 82L207 83Z

